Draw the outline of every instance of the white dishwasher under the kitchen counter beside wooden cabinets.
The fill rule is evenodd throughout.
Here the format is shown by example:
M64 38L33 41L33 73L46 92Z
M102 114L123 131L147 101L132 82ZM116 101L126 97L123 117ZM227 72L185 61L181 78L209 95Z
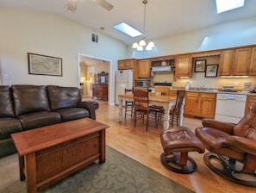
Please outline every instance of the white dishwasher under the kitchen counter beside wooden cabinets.
M217 94L215 120L237 123L245 114L246 95Z

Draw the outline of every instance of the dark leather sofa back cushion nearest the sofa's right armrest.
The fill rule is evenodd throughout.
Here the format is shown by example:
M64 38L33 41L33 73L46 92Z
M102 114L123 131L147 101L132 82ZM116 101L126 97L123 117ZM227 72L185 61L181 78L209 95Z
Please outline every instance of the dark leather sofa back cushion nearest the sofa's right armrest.
M77 87L47 85L47 90L52 110L78 107L81 101Z

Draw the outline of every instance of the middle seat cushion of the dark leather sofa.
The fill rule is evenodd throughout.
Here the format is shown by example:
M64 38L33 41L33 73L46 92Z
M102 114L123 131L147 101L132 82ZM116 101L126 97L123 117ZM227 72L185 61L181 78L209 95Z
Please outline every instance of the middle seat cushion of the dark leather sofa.
M22 122L23 130L41 128L61 122L61 116L58 112L48 111L40 111L20 115L18 116L18 119Z

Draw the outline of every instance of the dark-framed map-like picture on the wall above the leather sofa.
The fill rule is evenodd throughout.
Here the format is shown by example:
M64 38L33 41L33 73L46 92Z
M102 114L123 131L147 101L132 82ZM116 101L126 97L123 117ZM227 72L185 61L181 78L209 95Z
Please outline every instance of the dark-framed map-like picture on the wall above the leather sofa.
M62 59L28 53L28 74L62 76Z

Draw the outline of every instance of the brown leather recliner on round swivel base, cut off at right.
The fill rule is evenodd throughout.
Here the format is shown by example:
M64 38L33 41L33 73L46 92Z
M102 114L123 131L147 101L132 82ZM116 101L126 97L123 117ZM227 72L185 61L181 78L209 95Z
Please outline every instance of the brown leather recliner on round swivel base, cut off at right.
M196 135L209 150L205 164L234 183L256 186L256 103L237 124L203 119Z

